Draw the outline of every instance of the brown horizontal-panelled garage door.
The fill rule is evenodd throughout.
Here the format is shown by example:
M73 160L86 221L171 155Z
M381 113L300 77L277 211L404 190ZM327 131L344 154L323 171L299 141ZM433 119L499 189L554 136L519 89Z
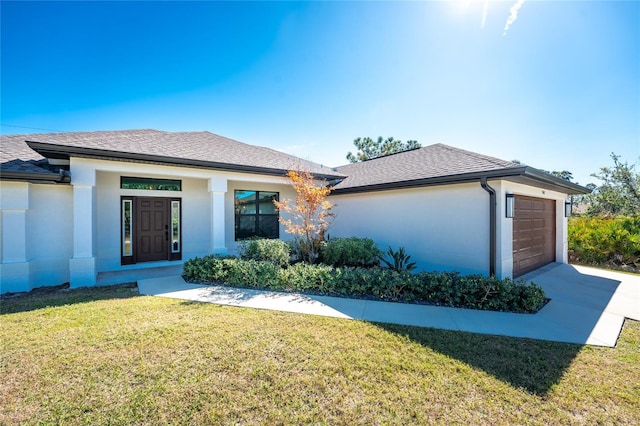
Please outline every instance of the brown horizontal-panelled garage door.
M515 197L513 276L518 277L556 260L556 202Z

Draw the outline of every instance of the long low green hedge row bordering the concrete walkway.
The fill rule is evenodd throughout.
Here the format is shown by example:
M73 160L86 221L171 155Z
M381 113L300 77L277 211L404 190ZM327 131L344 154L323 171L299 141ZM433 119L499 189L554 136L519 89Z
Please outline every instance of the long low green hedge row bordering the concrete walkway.
M547 300L533 283L457 272L411 274L306 263L282 267L273 262L206 256L185 262L183 275L190 282L234 287L519 313L537 312Z

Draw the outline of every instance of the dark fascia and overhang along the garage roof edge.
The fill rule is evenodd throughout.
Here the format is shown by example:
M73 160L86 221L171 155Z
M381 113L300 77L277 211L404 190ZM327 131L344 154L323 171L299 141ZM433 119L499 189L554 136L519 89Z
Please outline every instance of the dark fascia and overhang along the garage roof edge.
M456 183L479 182L482 178L488 180L508 180L538 188L557 191L569 195L589 194L591 190L581 185L561 179L549 173L529 166L488 170L482 172L461 173L457 175L435 176L401 182L386 182L357 187L336 188L331 195L355 194L362 192L388 191L393 189L419 188L436 185L452 185Z

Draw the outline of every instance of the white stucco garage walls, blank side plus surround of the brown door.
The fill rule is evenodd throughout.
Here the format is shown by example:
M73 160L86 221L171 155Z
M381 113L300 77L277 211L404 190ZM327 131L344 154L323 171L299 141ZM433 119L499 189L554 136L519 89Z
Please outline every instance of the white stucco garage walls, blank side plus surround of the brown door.
M564 193L505 180L496 191L496 276L513 275L513 219L505 217L506 194L555 200L556 262L567 263ZM329 235L370 237L386 250L405 247L422 270L489 273L489 193L479 183L336 195L337 216Z

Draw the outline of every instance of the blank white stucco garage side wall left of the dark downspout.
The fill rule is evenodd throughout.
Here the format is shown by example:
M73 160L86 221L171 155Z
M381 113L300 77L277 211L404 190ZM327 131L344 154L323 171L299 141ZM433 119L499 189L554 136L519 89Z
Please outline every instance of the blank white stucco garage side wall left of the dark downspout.
M331 237L404 247L421 270L489 272L489 194L479 183L331 196Z

